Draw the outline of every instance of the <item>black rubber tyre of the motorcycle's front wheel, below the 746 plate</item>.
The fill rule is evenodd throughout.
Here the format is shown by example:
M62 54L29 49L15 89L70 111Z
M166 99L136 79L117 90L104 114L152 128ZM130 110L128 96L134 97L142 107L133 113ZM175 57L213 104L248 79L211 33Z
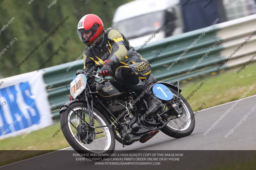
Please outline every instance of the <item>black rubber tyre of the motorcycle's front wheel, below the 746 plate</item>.
M81 108L86 108L87 109L87 107L84 107L84 103L83 102L71 103L69 105L69 107L71 107L72 109L75 109L75 108L77 109L77 107L78 108L81 107ZM81 146L81 144L78 143L78 141L75 139L75 137L71 133L71 131L69 129L69 125L70 126L72 126L72 125L68 122L68 117L69 117L70 112L73 112L73 111L71 111L70 108L67 108L60 115L60 125L61 125L61 127L63 127L62 131L63 131L63 134L64 134L66 140L68 141L70 146L74 150L76 150L76 152L78 152L78 153L89 153L89 154L95 153L95 152L91 152L90 150L86 150L83 146ZM96 108L93 108L93 112L94 112L94 116L99 116L103 120L104 124L110 125L109 121L105 118L105 116L102 115ZM95 117L94 117L94 120L95 120ZM67 125L67 122L68 122L68 125ZM66 125L65 125L65 123L66 123ZM105 152L103 151L102 153L104 153L104 154L111 154L111 153L114 152L115 145L116 145L115 144L115 134L114 134L113 129L111 129L109 127L106 127L106 129L110 133L111 144L110 144L110 147L108 148L108 150L106 150Z

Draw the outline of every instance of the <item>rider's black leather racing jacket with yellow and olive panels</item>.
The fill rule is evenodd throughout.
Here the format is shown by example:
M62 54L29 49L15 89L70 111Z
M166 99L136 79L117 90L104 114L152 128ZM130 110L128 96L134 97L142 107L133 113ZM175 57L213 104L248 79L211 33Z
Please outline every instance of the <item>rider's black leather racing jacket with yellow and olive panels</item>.
M99 44L87 46L84 49L84 71L86 74L101 68L107 59L114 62L114 72L119 66L133 64L141 59L141 55L116 29L105 30L103 35Z

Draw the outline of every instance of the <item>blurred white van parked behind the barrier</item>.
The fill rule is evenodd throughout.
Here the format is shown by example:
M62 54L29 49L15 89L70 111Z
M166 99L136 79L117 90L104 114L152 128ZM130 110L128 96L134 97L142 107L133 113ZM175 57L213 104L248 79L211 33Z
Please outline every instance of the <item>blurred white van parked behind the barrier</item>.
M119 6L113 28L123 33L133 47L142 45L161 29L150 42L183 33L179 0L135 0Z

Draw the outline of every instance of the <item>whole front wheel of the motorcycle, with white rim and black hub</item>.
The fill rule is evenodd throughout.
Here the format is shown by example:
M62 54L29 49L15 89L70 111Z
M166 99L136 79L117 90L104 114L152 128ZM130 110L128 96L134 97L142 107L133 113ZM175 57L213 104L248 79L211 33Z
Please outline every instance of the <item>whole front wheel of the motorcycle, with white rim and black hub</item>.
M90 122L88 108L83 102L76 102L69 105L87 123ZM97 109L93 108L94 127L90 128L70 108L61 113L60 125L63 127L63 134L74 150L78 153L106 153L110 154L115 149L115 134L109 128L109 121ZM73 126L73 125L74 126Z

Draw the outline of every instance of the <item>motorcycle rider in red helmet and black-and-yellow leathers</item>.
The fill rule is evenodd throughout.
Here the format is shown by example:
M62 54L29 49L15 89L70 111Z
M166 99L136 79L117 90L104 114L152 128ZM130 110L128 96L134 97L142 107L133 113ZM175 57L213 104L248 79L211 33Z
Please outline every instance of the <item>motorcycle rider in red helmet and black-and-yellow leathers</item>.
M146 116L152 115L164 107L150 90L147 90L151 64L135 49L116 29L104 30L102 20L94 14L87 14L80 19L77 32L86 45L84 49L84 72L91 73L101 69L100 74L111 76L137 94L144 92L148 109ZM148 83L148 84L147 84Z

